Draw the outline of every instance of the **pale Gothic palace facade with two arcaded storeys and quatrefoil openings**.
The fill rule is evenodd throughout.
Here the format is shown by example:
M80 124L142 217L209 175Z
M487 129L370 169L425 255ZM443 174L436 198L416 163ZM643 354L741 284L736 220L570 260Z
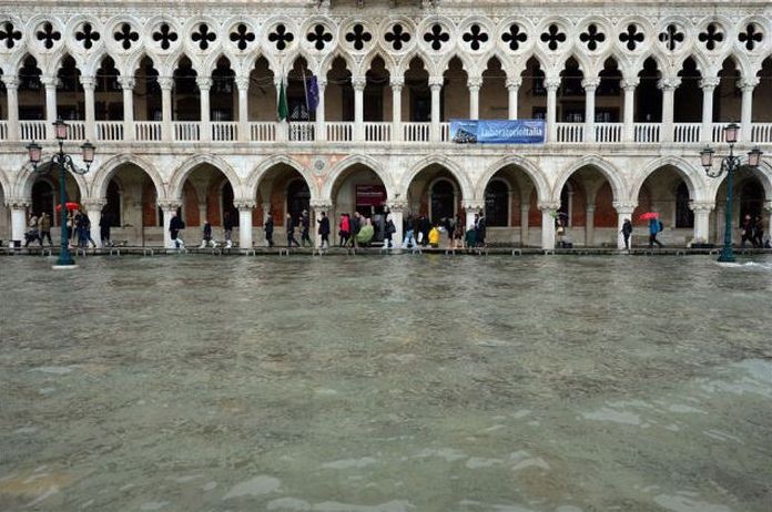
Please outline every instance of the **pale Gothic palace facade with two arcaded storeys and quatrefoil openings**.
M50 154L57 117L98 152L69 198L131 244L167 244L179 211L192 238L230 215L257 245L306 208L399 231L485 212L492 242L545 248L557 211L589 246L654 209L666 243L712 242L725 190L699 151L732 121L765 153L737 215L772 215L768 1L1 3L0 239L58 202L24 149ZM451 119L542 119L546 141L459 144Z

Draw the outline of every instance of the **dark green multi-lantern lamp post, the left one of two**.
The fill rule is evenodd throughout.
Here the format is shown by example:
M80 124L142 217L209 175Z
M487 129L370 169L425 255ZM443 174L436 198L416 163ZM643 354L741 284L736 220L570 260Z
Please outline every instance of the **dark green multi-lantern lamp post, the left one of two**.
M59 252L57 265L54 265L53 268L77 268L75 262L72 259L72 255L70 254L70 232L67 228L67 171L70 170L75 174L88 173L89 167L91 167L91 163L94 161L95 147L89 141L85 141L83 145L81 145L85 168L79 168L72 161L72 156L64 153L64 140L67 139L68 124L61 119L58 119L57 122L53 123L53 129L57 141L59 142L59 153L54 153L54 155L51 156L51 163L59 166L59 206L62 211L61 250ZM42 150L43 149L40 146L40 144L35 143L34 141L27 145L30 163L32 164L32 168L34 171L38 171L38 164L40 163Z

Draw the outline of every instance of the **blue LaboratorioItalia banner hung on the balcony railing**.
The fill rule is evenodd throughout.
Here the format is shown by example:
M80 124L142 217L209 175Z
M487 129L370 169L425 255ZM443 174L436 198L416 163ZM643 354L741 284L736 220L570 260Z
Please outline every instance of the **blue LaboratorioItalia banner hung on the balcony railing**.
M544 144L541 120L450 120L450 140L459 144Z

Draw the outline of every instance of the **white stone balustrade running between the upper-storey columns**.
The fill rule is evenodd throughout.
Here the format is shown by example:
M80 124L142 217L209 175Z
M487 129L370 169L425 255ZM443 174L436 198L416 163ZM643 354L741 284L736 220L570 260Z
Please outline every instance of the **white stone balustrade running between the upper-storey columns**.
M69 121L69 137L73 141L90 139L85 136L87 126L83 121ZM723 143L723 127L727 123L713 123L711 143ZM20 141L45 140L48 123L45 121L19 121ZM125 137L126 125L122 121L98 121L94 123L95 141L98 142L162 142L163 123L160 121L135 121L133 137ZM253 121L244 123L244 130L238 122L210 122L209 133L203 123L197 121L172 122L170 142L211 144L247 142L247 143L357 143L357 144L429 144L434 142L431 123L403 122L395 125L390 122L365 122L362 133L357 133L354 122L333 121L319 126L314 122L276 123L272 121ZM449 141L450 123L440 123L436 143L453 144ZM319 137L319 129L323 137ZM595 123L591 125L593 141L587 134L588 126L583 123L556 123L556 144L623 144L624 125L622 123ZM204 135L209 135L204 137ZM0 121L0 141L11 136L8 121ZM672 144L700 144L702 141L702 123L673 123ZM661 123L634 123L632 125L632 143L659 144L663 141ZM753 123L751 125L750 143L772 144L772 123ZM549 143L547 143L549 144Z

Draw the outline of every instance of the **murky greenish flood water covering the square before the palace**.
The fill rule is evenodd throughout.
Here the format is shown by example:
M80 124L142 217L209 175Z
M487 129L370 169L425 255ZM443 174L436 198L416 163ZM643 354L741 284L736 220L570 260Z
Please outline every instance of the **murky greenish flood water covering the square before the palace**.
M2 511L772 510L770 257L80 264L0 259Z

